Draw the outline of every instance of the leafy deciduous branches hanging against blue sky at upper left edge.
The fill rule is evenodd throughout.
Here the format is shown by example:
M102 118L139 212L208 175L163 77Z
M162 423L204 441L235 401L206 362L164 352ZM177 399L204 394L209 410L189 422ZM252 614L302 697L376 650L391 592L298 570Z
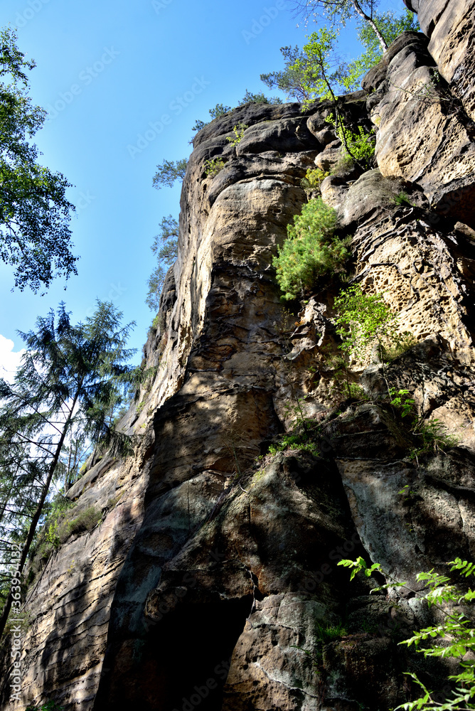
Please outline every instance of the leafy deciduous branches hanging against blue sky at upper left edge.
M70 183L41 166L28 139L41 128L46 111L28 97L25 60L16 33L0 32L0 259L14 267L15 286L37 292L54 277L77 274L70 252Z

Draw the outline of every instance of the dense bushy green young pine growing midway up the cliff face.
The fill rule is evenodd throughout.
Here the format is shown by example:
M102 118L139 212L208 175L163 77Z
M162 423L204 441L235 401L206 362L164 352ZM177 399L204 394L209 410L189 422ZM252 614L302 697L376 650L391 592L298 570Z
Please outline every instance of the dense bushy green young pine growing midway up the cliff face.
M341 270L350 255L349 240L335 237L335 228L336 211L321 198L309 201L294 216L294 225L287 226L289 236L272 262L284 299L295 299L322 274Z

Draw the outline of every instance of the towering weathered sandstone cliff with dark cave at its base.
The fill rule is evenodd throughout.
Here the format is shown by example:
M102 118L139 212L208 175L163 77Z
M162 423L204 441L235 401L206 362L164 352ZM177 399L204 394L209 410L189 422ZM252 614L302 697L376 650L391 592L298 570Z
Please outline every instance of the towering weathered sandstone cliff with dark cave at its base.
M102 523L31 564L23 705L387 710L417 693L405 671L443 687L444 664L397 642L432 619L417 572L475 552L475 146L471 75L457 78L473 43L457 44L451 75L454 4L418 6L429 47L405 33L338 100L346 121L375 127L377 166L321 185L351 237L353 282L385 294L417 344L389 365L353 363L368 400L346 399L326 355L338 284L289 309L279 299L272 257L307 200L301 178L341 157L329 105L250 104L205 127L144 348L155 374L120 423L142 442L90 462L71 515L95 507ZM459 446L411 458L388 383ZM294 437L276 453L296 417L311 446ZM337 562L358 555L413 592L350 584ZM8 638L3 653L6 709Z

